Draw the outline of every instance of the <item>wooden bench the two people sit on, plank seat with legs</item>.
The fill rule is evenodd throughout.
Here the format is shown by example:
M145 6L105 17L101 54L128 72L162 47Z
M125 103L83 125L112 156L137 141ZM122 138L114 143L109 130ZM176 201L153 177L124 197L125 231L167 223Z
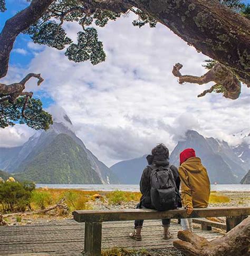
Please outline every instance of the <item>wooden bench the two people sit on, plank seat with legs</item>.
M104 210L104 211L74 211L73 217L77 222L85 222L84 255L100 256L102 240L102 222L158 220L158 219L186 219L226 216L227 231L233 229L246 216L250 215L250 207L212 207L194 208L191 215L187 215L184 208L158 212L150 209Z

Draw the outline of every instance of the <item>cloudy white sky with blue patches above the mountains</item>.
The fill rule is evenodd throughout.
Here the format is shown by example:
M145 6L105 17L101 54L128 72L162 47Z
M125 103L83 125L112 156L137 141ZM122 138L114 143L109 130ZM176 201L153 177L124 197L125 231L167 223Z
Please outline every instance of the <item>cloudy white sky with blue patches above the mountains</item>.
M0 31L7 18L27 6L25 0L6 2ZM76 135L108 166L147 154L161 142L171 151L187 129L238 144L232 134L250 129L250 90L243 85L237 100L217 93L197 98L213 83L180 85L172 66L180 62L183 74L203 75L202 64L208 57L161 24L139 29L132 20L130 15L98 27L107 58L95 66L69 61L64 50L34 44L28 35L19 35L1 82L20 81L28 72L41 73L41 86L32 79L26 90L33 91L49 111L62 107ZM76 23L65 23L64 29L74 41L81 31ZM0 129L0 147L20 146L34 132L24 125Z

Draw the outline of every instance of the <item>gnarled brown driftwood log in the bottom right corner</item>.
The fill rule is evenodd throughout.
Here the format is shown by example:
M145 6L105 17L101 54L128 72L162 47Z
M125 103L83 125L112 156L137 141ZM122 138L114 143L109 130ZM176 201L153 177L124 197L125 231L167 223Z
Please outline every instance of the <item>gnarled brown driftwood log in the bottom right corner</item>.
M181 241L174 241L174 246L187 256L250 255L250 217L210 242L189 231L179 231L178 238Z

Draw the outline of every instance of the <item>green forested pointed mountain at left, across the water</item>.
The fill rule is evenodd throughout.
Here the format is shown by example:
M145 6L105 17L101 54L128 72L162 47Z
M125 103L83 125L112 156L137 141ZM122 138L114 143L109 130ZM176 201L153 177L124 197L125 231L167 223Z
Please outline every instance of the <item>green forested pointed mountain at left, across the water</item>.
M101 184L86 152L66 134L57 135L15 177L47 184Z

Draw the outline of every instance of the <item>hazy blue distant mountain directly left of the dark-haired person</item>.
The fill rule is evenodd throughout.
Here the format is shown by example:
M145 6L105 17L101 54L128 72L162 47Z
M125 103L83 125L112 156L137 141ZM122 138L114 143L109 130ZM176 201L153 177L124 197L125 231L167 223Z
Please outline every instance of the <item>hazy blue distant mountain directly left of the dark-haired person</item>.
M147 166L146 156L121 161L110 169L119 177L121 184L139 184L142 171Z

